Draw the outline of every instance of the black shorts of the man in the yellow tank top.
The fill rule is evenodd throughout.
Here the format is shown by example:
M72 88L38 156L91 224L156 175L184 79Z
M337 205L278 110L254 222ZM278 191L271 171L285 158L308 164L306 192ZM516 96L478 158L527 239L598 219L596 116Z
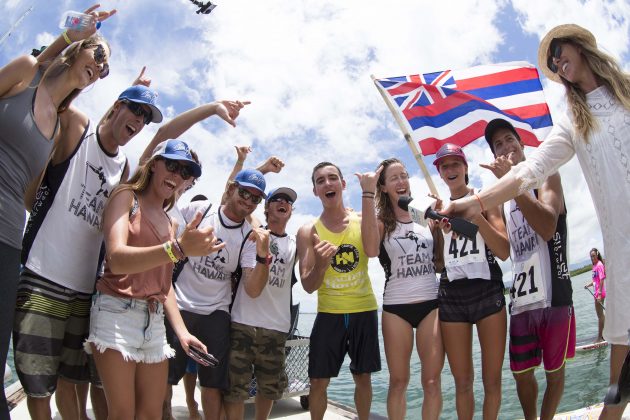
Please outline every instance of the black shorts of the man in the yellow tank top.
M346 353L350 354L350 372L353 374L381 370L376 311L317 313L311 332L308 376L336 377Z

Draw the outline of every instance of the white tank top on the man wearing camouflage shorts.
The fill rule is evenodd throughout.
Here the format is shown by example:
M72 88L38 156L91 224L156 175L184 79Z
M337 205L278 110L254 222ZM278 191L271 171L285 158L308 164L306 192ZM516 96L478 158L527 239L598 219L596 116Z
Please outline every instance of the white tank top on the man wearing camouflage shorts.
M252 327L289 332L291 327L291 286L295 267L295 236L270 235L269 250L273 257L269 281L260 296L253 299L239 283L232 321Z

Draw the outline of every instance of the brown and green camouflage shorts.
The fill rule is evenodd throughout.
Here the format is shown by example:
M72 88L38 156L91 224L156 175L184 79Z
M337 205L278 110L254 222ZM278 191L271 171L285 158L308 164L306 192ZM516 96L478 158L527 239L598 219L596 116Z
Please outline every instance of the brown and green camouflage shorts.
M241 402L249 398L252 375L256 377L258 395L270 400L282 398L287 387L286 340L286 333L232 322L230 388L225 399Z

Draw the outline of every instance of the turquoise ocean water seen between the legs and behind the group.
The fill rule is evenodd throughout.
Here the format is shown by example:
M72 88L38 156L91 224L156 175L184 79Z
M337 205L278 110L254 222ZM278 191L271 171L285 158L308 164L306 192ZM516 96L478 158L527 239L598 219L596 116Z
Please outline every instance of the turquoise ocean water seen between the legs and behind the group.
M590 272L580 274L572 279L573 282L573 302L576 314L576 331L577 341L586 341L597 335L597 316L593 297L584 290L584 285L590 281ZM506 296L506 298L509 298ZM379 313L380 319L380 313ZM298 323L301 335L308 336L311 332L315 314L302 313ZM508 316L509 320L509 316ZM508 321L509 322L509 321ZM475 367L475 418L482 417L483 405L483 385L481 382L481 355L476 330L473 328L473 363ZM387 389L389 383L389 374L387 371L387 361L385 359L385 350L382 345L383 338L379 325L379 336L381 342L381 363L382 370L372 375L372 412L387 416ZM574 359L569 360L566 365L565 390L560 403L558 412L571 411L577 408L592 405L601 402L606 395L608 388L608 356L609 348L592 350L588 352L578 352ZM542 397L545 389L545 373L542 367L536 369L536 378L538 379L539 398L538 410L542 403ZM501 419L518 419L523 418L520 403L516 394L516 385L512 373L510 372L509 356L507 352L503 361L503 393L501 401L501 411L499 418ZM339 377L331 380L328 388L328 398L341 402L345 405L354 406L353 400L354 382L349 370L349 358L346 357ZM442 371L442 395L443 409L441 418L450 419L457 418L455 412L455 383L448 366L448 360L445 360L444 370ZM420 360L417 353L411 358L411 380L407 390L407 418L419 419L422 417L422 387L420 385Z

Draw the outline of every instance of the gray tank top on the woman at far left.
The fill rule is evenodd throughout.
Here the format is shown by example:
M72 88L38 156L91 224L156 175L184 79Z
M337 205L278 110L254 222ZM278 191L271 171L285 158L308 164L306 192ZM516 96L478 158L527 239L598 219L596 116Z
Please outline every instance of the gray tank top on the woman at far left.
M39 176L53 142L35 124L33 105L41 69L30 86L17 95L0 99L0 242L22 247L26 221L24 193ZM59 126L59 119L55 131Z

